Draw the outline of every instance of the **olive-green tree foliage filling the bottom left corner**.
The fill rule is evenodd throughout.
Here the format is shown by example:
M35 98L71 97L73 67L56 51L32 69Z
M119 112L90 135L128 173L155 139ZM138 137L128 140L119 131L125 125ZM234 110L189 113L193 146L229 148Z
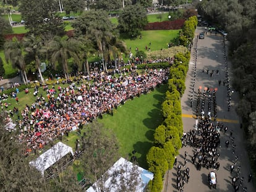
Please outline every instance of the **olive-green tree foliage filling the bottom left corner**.
M38 170L25 157L25 144L15 140L15 132L6 131L7 114L0 114L0 188L1 191L48 191Z

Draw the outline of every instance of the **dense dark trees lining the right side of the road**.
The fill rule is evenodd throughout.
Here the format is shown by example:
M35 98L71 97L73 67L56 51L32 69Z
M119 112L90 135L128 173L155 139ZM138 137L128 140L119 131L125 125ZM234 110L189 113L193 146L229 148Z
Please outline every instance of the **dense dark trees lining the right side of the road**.
M228 32L229 59L233 67L233 88L239 92L237 114L245 129L249 156L256 172L256 3L255 1L205 1L198 12Z

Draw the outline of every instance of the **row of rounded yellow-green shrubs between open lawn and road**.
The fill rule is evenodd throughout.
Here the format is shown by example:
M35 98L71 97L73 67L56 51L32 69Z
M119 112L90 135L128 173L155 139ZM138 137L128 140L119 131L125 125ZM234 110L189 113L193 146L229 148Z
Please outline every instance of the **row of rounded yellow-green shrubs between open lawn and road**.
M147 154L148 170L154 173L153 180L148 183L148 190L151 192L162 190L164 173L173 168L175 156L182 146L181 96L185 90L190 53L178 53L174 58L168 80L169 90L166 91L166 100L162 104L164 121L156 128L154 146Z

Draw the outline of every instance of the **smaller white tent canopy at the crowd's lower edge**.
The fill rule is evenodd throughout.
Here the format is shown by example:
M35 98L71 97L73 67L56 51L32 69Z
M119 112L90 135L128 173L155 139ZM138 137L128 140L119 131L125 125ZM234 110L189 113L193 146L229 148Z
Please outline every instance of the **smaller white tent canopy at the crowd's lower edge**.
M42 175L46 169L51 167L51 165L55 164L59 161L62 157L66 156L71 152L74 156L73 150L70 146L67 146L64 143L57 143L51 149L48 149L46 152L41 154L35 161L30 161L29 164L36 167Z

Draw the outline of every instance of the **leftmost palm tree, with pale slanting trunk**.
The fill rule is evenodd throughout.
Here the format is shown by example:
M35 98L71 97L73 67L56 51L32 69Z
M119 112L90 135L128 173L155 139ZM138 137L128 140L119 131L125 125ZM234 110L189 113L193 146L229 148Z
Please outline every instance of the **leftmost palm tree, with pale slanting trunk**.
M4 56L7 62L11 62L12 67L20 70L23 83L27 84L28 78L26 73L26 65L22 54L22 43L13 38L12 41L6 41L4 44Z

